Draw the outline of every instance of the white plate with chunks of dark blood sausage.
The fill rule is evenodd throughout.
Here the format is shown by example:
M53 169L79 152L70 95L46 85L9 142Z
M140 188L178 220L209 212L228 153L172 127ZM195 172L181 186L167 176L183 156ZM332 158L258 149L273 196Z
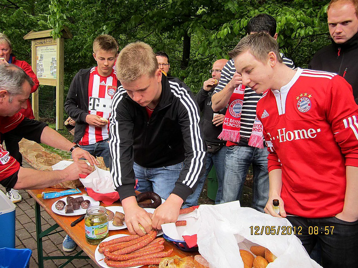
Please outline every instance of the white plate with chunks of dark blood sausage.
M59 215L77 216L86 214L87 208L98 206L99 204L99 201L88 195L71 195L53 203L51 209Z

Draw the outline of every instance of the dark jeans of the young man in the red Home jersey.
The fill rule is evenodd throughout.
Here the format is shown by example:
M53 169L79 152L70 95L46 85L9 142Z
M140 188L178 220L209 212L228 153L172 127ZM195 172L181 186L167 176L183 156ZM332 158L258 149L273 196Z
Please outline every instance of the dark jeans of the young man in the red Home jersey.
M336 217L308 219L287 216L308 254L317 240L321 246L324 268L358 267L358 220L345 222ZM334 228L333 228L334 227Z

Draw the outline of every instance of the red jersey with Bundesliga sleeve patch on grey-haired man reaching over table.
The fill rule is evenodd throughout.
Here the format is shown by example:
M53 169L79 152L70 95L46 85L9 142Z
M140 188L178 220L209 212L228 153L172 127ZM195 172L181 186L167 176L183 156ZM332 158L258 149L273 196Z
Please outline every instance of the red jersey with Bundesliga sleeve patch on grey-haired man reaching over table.
M24 118L20 113L13 116L0 116L0 133L13 130ZM20 163L10 156L9 152L4 150L3 145L0 144L0 181L10 177L19 169Z

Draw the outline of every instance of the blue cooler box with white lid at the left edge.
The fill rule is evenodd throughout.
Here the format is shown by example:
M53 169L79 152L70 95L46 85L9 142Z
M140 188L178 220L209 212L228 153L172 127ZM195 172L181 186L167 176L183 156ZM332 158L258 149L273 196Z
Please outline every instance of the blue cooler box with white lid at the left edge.
M0 248L15 248L15 208L0 190Z

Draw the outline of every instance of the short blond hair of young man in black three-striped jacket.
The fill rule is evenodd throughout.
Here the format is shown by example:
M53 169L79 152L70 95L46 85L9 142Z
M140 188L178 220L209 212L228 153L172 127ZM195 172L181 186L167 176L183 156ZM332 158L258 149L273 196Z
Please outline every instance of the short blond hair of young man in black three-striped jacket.
M116 61L117 78L132 82L142 75L154 76L158 61L150 45L144 42L130 43L121 50Z

